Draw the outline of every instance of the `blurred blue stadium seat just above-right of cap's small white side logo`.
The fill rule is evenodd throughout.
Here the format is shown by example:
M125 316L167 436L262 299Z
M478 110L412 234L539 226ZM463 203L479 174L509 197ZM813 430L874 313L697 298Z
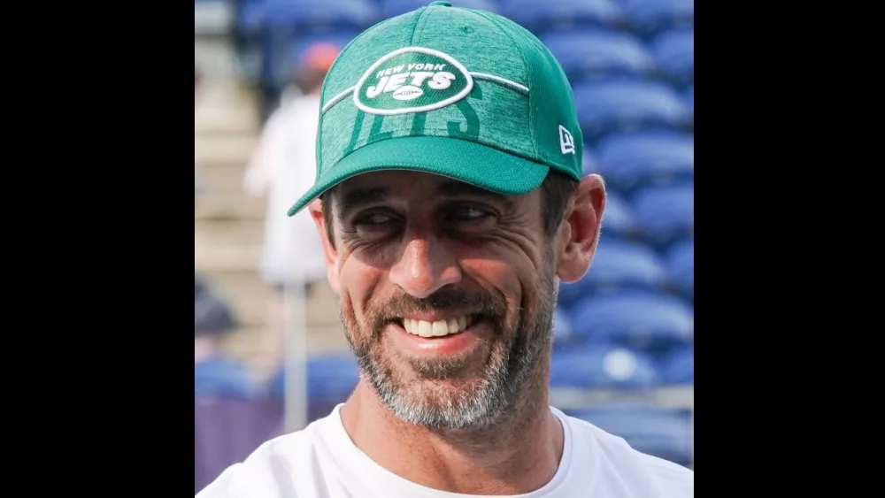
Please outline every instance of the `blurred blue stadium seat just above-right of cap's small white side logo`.
M604 80L573 85L584 141L607 134L655 129L683 130L691 115L676 91L658 81Z

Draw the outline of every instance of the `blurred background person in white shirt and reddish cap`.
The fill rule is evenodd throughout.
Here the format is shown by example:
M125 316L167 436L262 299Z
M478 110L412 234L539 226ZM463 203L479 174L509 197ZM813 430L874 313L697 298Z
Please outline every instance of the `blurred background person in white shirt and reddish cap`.
M272 296L259 346L264 369L258 373L268 377L282 364L287 291L297 290L306 298L312 284L326 275L322 243L310 214L290 219L286 210L293 198L312 186L319 90L338 51L334 45L317 43L299 54L291 81L295 91L267 120L243 179L247 193L267 199L261 273Z

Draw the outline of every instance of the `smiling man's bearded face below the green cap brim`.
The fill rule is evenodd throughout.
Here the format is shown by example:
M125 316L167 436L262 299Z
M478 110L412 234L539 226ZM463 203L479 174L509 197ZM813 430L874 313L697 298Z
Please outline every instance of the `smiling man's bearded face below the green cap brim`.
M420 172L336 189L329 278L360 367L397 417L488 425L543 378L557 280L542 197Z

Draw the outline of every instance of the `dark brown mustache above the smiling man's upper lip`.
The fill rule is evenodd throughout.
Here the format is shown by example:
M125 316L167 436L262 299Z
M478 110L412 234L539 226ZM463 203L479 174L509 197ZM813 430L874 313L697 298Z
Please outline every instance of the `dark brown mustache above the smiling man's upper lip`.
M369 325L376 333L392 321L416 313L450 312L483 315L488 318L504 317L507 313L507 300L504 295L486 290L464 291L443 288L423 299L402 294L390 298L385 303L373 304L377 310L369 319Z

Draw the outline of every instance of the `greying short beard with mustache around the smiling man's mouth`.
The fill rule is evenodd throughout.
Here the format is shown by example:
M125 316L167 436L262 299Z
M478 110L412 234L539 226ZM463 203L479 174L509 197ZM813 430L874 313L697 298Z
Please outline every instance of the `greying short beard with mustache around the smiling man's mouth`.
M534 310L519 306L508 318L502 294L443 288L425 299L400 294L370 303L360 324L342 303L342 323L362 376L404 422L434 430L481 430L504 421L546 372L557 301L552 264L542 272ZM531 287L529 287L531 288ZM400 354L384 330L415 312L471 313L492 329L484 348L431 359ZM483 356L479 356L482 354Z

